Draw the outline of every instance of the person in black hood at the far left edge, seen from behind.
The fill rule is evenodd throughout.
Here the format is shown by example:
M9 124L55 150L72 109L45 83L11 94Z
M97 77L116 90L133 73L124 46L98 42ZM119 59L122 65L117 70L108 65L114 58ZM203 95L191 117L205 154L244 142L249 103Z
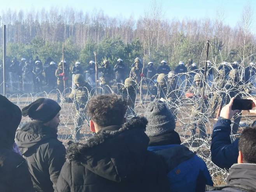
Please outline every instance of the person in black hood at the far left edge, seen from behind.
M34 191L26 160L13 150L15 132L20 122L21 110L19 107L0 95L1 192Z

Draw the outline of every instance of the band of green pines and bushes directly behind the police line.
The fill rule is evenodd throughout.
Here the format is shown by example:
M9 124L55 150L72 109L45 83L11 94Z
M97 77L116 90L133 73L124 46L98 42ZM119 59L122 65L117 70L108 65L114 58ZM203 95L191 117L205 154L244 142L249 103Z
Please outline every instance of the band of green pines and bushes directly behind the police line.
M223 51L223 42L214 44L214 40L210 41L209 59L214 63L221 63L223 60L228 62L242 61L243 50L233 49L231 52ZM189 58L200 65L200 61L205 60L205 44L206 42L191 41L181 32L174 45L164 44L156 47L153 45L150 56L147 50L144 50L144 44L135 38L132 42L124 44L121 38L105 38L98 44L95 42L87 42L79 49L75 45L72 38L68 38L64 42L64 59L70 65L74 66L75 61L80 61L85 68L88 66L90 60L95 60L94 51L96 52L96 59L98 64L102 64L104 59L108 59L110 65L114 66L118 58L123 59L128 68L131 67L134 59L139 57L145 58L144 63L153 61L155 66L160 64L160 61L165 59L172 68L174 68L179 61L188 62ZM146 49L146 48L145 48ZM145 56L144 56L145 51ZM251 53L256 52L254 45L248 44L245 47L245 63L254 61L255 55ZM34 38L30 44L22 43L7 43L7 56L9 58L16 57L20 60L25 57L35 59L39 56L44 63L48 57L51 57L56 63L62 59L62 43L44 41L42 38ZM0 63L2 63L2 47L0 48Z

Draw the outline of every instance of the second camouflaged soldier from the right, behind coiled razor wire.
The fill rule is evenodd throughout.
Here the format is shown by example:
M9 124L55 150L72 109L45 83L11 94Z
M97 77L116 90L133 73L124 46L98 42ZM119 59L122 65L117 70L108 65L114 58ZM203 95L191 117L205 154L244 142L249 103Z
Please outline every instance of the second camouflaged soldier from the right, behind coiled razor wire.
M216 82L212 84L210 88L211 92L213 93L210 112L211 117L214 115L217 106L221 105L221 96L223 94L225 85L225 72L224 69L221 69L219 70L219 77L216 78Z

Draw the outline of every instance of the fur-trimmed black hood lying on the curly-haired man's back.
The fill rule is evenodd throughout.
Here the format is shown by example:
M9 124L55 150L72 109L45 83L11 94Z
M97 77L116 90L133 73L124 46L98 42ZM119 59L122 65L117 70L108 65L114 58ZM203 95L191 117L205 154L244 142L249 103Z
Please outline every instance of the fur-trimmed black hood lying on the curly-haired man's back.
M79 162L96 175L114 182L141 176L149 153L149 138L144 133L146 125L145 117L134 117L120 129L109 126L84 144L72 143L67 149L67 161Z

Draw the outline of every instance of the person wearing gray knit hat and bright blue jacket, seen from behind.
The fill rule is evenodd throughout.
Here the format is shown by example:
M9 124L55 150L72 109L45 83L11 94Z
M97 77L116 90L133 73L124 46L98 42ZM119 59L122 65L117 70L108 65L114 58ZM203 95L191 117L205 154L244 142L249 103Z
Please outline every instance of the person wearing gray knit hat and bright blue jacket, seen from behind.
M163 155L167 160L171 190L204 192L205 185L212 186L205 162L181 145L180 136L174 130L175 117L167 105L155 99L147 106L144 116L148 120L145 132L149 136L148 150Z

